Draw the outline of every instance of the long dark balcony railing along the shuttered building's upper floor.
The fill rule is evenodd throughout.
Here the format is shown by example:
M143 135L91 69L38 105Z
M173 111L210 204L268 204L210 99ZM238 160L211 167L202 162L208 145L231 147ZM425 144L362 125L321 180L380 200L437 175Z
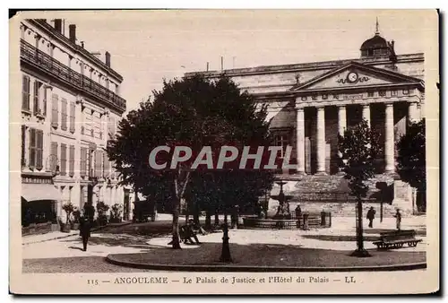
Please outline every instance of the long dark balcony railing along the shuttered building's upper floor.
M21 40L21 57L34 65L38 65L47 73L69 82L78 89L88 91L117 108L126 109L125 99L117 96L113 91L106 89L97 82L93 82L85 75L73 71L67 65L63 65L55 58L45 54L24 40Z

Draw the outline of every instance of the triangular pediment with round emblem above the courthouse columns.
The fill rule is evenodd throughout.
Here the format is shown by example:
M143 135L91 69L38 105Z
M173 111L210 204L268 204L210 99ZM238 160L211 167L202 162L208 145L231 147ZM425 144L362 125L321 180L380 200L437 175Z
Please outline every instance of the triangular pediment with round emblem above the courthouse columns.
M422 83L415 77L395 73L381 68L351 62L320 74L310 81L297 84L291 91L314 91L327 89L349 89L398 83Z

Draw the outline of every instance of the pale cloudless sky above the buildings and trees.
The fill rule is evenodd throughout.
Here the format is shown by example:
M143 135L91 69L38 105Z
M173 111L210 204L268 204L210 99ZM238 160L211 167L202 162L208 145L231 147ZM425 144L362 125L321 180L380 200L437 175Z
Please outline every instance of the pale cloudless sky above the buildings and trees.
M435 13L435 11L433 11ZM425 52L431 30L421 11L123 11L61 13L90 52L106 50L124 77L127 109L138 107L163 78L186 72L358 58L375 34L398 55ZM426 18L425 18L426 16ZM104 60L104 58L102 58Z

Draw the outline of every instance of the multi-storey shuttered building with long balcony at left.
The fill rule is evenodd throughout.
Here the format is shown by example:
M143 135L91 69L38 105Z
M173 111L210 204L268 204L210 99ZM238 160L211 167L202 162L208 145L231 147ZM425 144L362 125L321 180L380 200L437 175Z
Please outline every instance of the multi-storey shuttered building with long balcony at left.
M105 148L125 112L111 56L90 53L65 21L21 22L22 220L64 218L62 205L129 208ZM65 220L65 219L63 219Z

